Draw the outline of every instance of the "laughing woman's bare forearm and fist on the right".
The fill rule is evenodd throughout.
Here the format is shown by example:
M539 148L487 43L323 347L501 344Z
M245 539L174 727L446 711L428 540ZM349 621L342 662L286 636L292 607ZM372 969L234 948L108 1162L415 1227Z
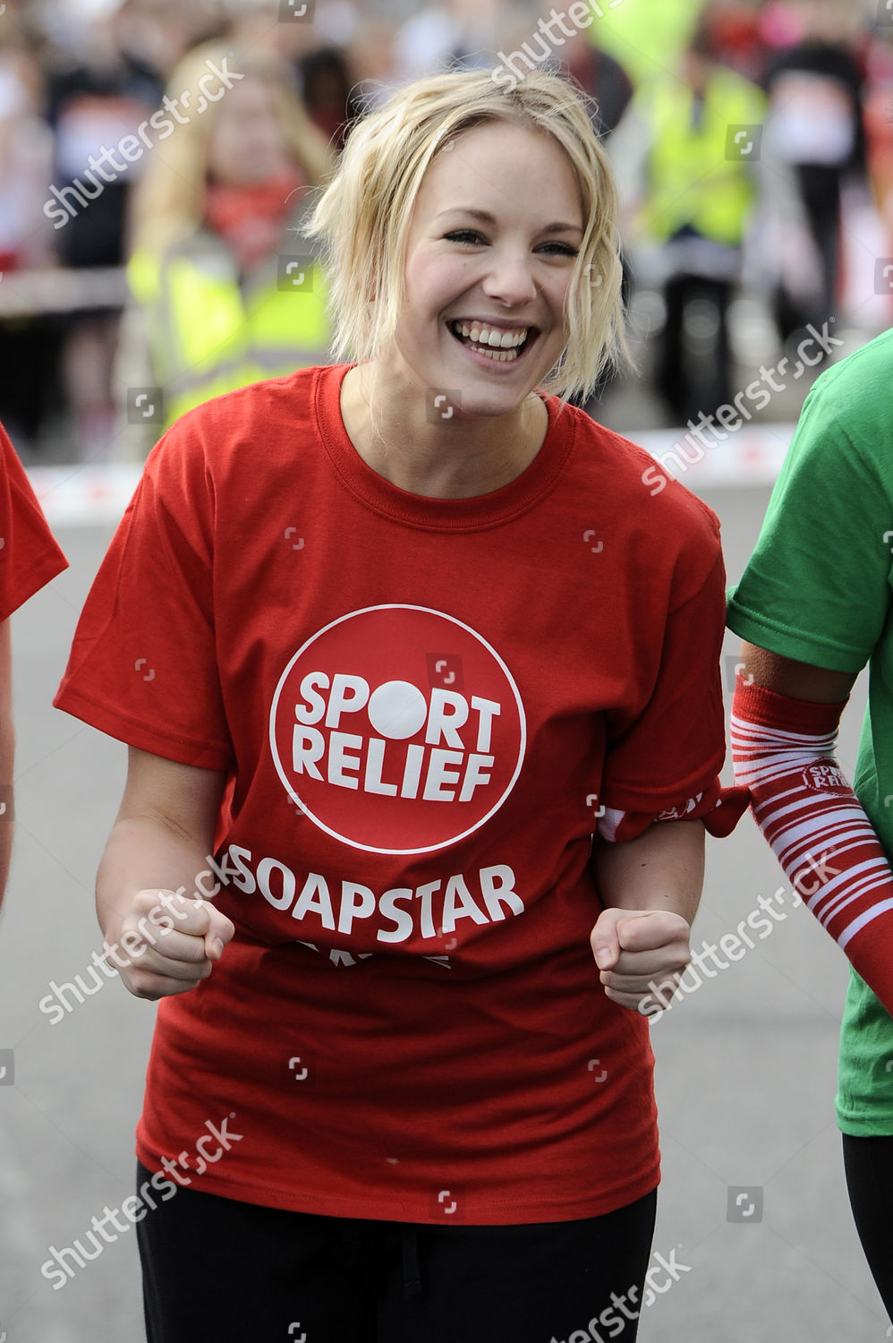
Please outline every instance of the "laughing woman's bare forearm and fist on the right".
M642 1011L654 986L675 990L690 959L689 932L704 885L704 823L654 822L638 839L596 841L592 870L606 907L590 939L604 991Z

